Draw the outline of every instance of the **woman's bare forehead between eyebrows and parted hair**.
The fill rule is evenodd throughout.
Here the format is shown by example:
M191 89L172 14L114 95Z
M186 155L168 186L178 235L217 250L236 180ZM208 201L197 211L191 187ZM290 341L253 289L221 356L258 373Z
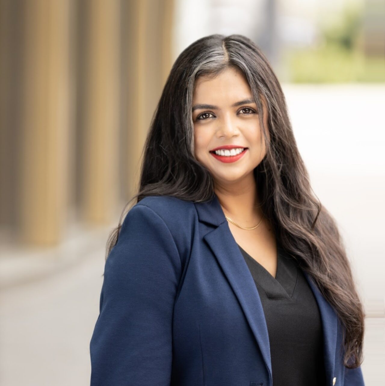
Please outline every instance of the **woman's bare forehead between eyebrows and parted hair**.
M194 102L207 102L205 98L233 100L251 97L252 91L245 75L238 69L226 68L216 76L201 76L195 82Z

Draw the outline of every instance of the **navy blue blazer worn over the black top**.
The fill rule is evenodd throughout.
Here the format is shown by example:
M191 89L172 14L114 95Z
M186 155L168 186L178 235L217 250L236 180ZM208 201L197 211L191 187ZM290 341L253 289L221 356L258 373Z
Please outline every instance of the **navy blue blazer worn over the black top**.
M342 324L304 272L323 324L327 386L363 386L343 365ZM272 386L267 325L214 196L135 204L106 260L89 345L91 386Z

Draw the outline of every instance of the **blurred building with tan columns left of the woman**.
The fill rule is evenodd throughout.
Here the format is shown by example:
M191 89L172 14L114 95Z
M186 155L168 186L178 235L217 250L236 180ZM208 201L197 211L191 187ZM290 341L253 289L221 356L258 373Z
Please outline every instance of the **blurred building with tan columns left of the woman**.
M134 189L172 64L173 3L0 7L0 222L7 239L57 244L68 222L115 220Z

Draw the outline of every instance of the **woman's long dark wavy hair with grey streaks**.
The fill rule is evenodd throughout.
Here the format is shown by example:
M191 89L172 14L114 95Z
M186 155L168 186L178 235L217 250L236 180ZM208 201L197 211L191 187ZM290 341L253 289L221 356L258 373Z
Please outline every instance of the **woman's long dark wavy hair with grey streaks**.
M138 192L127 203L146 196L174 196L201 202L214 195L213 178L194 156L192 99L199 76L215 76L232 66L247 78L257 103L267 154L254 169L262 210L283 247L316 282L344 327L344 365L363 361L363 306L336 221L312 193L299 154L285 97L259 47L242 35L214 34L198 39L176 59L167 78L142 151ZM263 124L261 97L268 109ZM269 130L268 140L266 130ZM134 202L135 204L135 202ZM125 210L108 239L106 258L116 244Z

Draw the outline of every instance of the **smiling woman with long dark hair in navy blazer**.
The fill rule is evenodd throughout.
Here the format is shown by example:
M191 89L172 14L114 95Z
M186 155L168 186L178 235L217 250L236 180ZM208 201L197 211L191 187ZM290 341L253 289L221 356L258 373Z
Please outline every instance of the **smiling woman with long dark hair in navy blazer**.
M346 252L250 39L177 58L135 197L107 249L92 386L364 385Z

